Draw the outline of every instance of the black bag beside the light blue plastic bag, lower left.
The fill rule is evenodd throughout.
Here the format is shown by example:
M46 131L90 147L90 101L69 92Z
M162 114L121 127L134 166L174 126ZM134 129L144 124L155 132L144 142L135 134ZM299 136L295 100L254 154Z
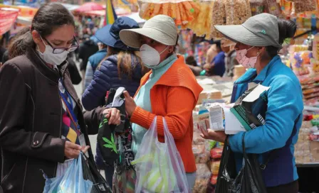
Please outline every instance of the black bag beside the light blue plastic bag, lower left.
M112 193L112 189L104 177L98 172L95 162L90 160L84 153L82 156L83 178L93 182L93 188L90 193Z

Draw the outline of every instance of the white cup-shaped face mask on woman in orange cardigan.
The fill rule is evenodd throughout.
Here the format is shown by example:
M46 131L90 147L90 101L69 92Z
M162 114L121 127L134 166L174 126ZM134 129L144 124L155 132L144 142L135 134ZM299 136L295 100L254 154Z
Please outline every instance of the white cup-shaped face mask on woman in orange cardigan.
M158 53L157 50L150 47L150 45L143 44L140 48L140 56L142 62L148 68L157 66L158 64L160 64L160 55L164 53L164 51L167 50L167 48L168 46L161 53Z

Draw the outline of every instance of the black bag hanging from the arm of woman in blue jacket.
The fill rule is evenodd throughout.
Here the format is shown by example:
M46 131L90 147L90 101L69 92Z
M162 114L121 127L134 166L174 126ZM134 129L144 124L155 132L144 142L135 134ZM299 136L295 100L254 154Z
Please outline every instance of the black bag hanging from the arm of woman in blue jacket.
M245 133L242 137L244 165L237 175L234 175L236 173L234 157L231 158L234 153L229 145L224 146L216 193L267 193L257 155L246 153L244 138Z

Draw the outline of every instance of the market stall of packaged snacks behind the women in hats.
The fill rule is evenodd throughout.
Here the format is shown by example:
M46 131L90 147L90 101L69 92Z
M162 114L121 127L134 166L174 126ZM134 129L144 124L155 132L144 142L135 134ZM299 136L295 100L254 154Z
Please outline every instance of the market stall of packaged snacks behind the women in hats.
M214 25L236 25L244 23L258 13L271 13L281 18L296 21L296 38L286 40L286 48L281 50L283 61L291 67L300 79L305 103L305 122L300 128L296 144L296 164L300 177L300 192L319 192L318 175L313 172L319 168L319 16L317 0L140 0L140 16L149 19L157 14L174 18L180 31L184 55L195 55L197 63L202 64L209 43L194 43L194 34L206 40L220 39L221 34ZM246 70L235 67L235 78ZM216 77L198 77L204 91L199 96L199 103L194 109L193 151L197 160L197 181L194 192L212 192L216 184L216 171L219 167L219 155L222 144L202 140L199 137L201 108L206 103L230 101L233 80ZM207 117L206 117L207 118ZM205 124L205 123L202 123ZM217 172L218 173L218 172ZM208 180L209 179L209 180ZM213 185L213 186L212 186Z

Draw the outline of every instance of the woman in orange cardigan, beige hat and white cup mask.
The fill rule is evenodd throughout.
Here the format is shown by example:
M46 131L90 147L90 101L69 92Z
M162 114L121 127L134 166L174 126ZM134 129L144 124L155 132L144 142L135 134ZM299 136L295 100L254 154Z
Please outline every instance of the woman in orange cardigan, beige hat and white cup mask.
M125 93L126 111L133 123L132 150L137 152L155 116L159 140L164 141L164 117L184 162L187 181L192 189L196 177L192 153L192 110L202 87L185 65L184 57L174 53L178 39L175 23L169 16L155 16L143 28L120 31L120 38L126 45L140 48L142 62L151 69L142 78L134 99Z

